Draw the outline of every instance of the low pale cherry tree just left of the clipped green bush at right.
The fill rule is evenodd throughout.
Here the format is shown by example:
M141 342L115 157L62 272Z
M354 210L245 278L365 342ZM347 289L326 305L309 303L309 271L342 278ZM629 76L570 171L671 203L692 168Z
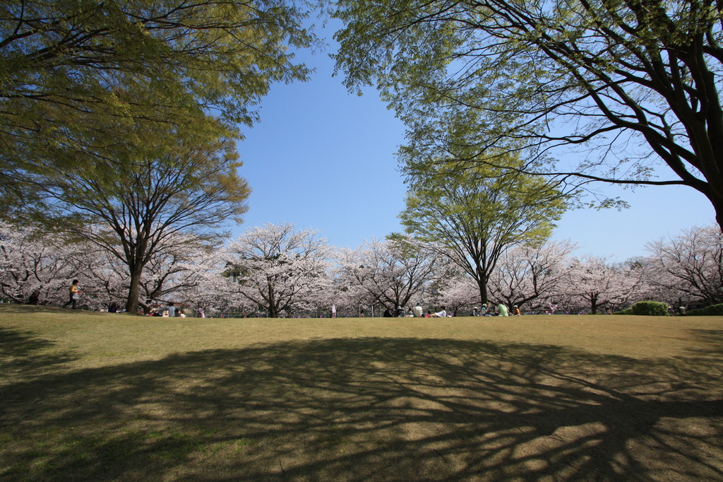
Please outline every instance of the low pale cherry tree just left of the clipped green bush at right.
M608 258L583 256L573 258L561 297L571 307L620 308L629 303L640 284L642 269L608 262ZM551 300L555 303L557 300Z

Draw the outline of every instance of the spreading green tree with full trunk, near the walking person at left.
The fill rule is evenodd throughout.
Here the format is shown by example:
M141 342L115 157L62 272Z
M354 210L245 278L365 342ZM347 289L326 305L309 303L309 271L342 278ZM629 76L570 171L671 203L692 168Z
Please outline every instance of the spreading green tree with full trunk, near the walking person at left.
M250 190L239 166L233 140L194 138L86 169L48 163L34 179L43 183L45 202L64 214L54 218L60 232L127 266L126 309L134 313L150 262L168 250L212 242L225 221L240 221Z

